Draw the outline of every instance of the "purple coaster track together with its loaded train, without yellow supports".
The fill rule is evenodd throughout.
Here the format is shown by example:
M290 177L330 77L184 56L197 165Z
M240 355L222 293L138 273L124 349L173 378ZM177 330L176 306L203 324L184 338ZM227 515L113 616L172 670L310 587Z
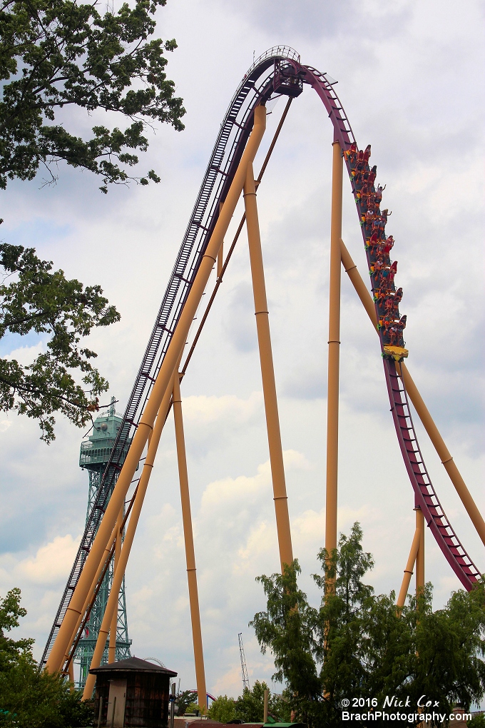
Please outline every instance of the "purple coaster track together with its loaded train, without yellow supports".
M348 116L335 92L336 83L329 74L321 73L312 66L302 65L300 55L292 48L279 46L271 48L253 63L233 95L220 125L204 180L128 397L116 442L97 488L96 500L87 518L86 529L49 633L41 664L47 662L124 459L177 330L185 302L220 215L221 203L228 194L252 132L254 109L278 96L295 100L306 87L316 91L324 104L333 125L334 142L340 145L348 170L369 270L390 410L414 491L415 505L422 511L425 523L465 589L470 590L473 583L480 578L480 571L466 553L441 507L417 441L402 373L402 363L408 353L404 342L406 316L399 311L403 290L396 288L397 262L390 258L391 252L394 252L394 240L385 230L388 211L381 210L383 190L379 185L376 186L376 167L369 162L370 145L364 150L358 149ZM193 347L185 360L183 373L192 351Z

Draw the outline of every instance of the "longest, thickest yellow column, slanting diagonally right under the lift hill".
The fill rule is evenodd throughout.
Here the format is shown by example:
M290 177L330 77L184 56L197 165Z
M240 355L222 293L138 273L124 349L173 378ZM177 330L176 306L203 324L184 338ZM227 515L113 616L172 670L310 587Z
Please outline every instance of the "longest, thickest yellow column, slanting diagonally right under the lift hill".
M244 149L241 162L239 162L239 167L236 170L228 195L225 198L223 209L221 210L219 219L215 224L209 244L207 245L207 249L201 260L196 279L188 293L183 311L180 314L180 319L172 336L172 341L167 349L167 353L164 357L164 361L161 365L155 384L153 384L153 389L150 397L148 397L145 411L138 423L137 431L132 439L127 457L124 461L123 467L121 468L119 478L116 482L113 494L111 494L110 502L105 510L105 515L100 523L92 548L89 551L86 562L84 563L76 589L73 592L73 596L69 602L62 625L57 633L55 643L52 645L52 650L49 654L46 665L46 668L50 673L55 673L60 670L66 649L68 649L69 640L71 639L73 630L79 620L79 615L81 614L84 601L87 598L89 587L92 585L92 581L103 556L103 551L105 550L105 546L111 536L111 531L113 531L115 526L116 518L118 518L119 510L123 505L124 498L127 494L130 483L132 482L133 475L135 475L135 470L140 462L140 457L143 454L143 450L148 440L148 435L150 435L153 431L153 422L155 422L161 400L163 399L165 392L167 392L167 388L172 388L171 383L175 367L180 359L183 347L185 346L185 341L187 341L188 331L191 328L193 317L196 315L197 307L199 306L201 297L204 294L212 268L217 261L217 253L219 252L220 245L223 242L223 237L228 229L229 223L231 222L233 212L241 195L244 180L246 179L247 165L248 163L252 163L256 155L257 149L260 146L262 135L265 132L265 128L266 109L264 106L257 106L257 108L254 109L254 127L246 144L246 149Z

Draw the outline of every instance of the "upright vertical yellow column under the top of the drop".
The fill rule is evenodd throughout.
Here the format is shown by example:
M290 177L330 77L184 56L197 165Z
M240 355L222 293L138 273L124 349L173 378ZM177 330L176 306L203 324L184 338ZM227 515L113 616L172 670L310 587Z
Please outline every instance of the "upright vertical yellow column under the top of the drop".
M342 237L342 149L333 143L332 218L330 228L329 371L326 410L325 548L337 548L337 475L340 368L340 239Z

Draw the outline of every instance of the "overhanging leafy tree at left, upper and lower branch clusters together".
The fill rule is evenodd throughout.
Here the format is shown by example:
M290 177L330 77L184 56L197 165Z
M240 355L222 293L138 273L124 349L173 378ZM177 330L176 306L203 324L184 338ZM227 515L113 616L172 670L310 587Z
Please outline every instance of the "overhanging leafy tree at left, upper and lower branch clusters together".
M129 169L138 162L134 152L148 148L146 127L164 122L183 129L185 109L165 73L164 53L177 44L149 39L156 11L166 2L136 0L104 15L97 2L0 4L0 189L15 178L32 180L39 167L55 181L60 161L100 175L105 193L108 183L160 181L153 170L135 178ZM113 112L111 119L120 116L129 126L121 131L97 124L84 139L66 126L70 107L88 115ZM92 366L95 352L79 342L119 314L98 285L84 288L61 270L52 273L52 262L41 261L33 248L0 245L0 268L0 339L8 332L50 337L47 351L28 367L0 359L0 411L17 409L39 419L41 439L49 443L55 412L82 426L97 408L97 395L108 389ZM74 379L76 371L84 387Z

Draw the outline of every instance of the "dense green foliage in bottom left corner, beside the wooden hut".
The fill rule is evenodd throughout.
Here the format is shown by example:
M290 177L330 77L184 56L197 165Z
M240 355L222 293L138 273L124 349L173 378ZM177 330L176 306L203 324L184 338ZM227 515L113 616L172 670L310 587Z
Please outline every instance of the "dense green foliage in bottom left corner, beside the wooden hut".
M33 639L5 635L18 627L26 611L20 589L0 599L0 726L16 728L76 728L92 725L92 704L81 703L81 692L68 681L39 673L33 659Z

